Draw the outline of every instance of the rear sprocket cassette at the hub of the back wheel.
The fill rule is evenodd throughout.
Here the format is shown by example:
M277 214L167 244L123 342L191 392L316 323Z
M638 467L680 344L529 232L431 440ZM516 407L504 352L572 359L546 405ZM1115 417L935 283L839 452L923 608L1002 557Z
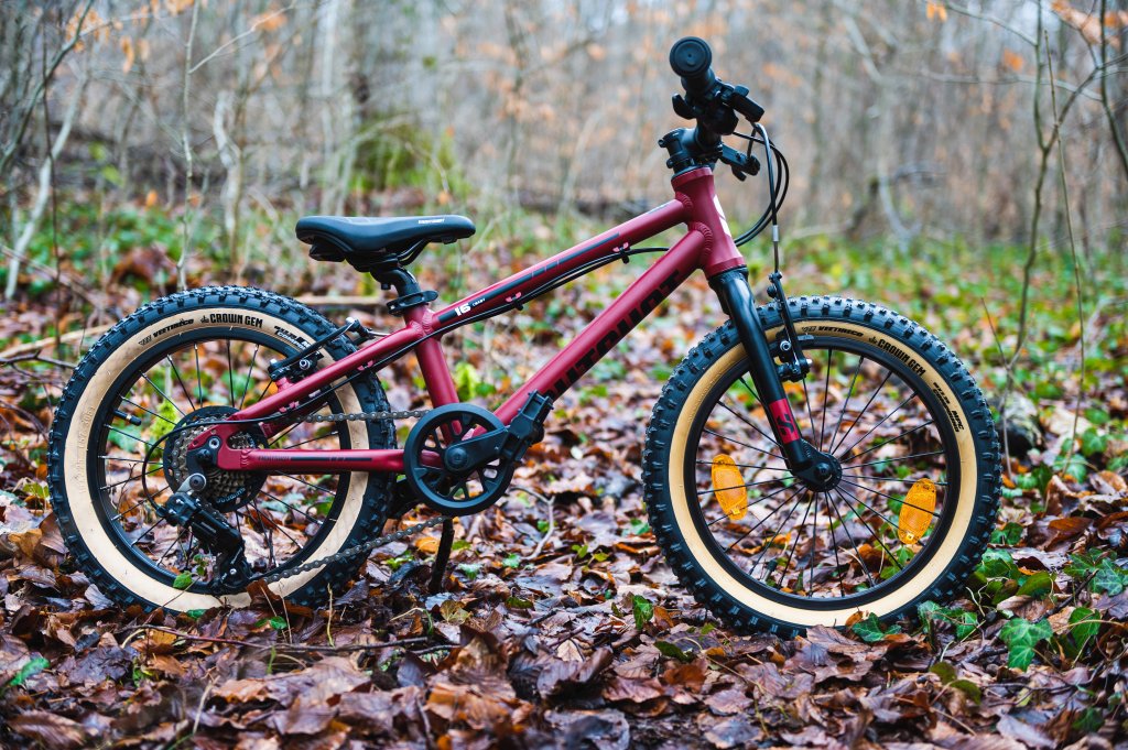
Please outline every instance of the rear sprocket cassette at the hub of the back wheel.
M235 414L238 409L231 406L203 406L180 420L165 447L164 468L169 486L179 487L188 477L188 445L199 435L208 432L218 420ZM193 426L197 422L199 426ZM231 448L265 448L266 435L258 425L247 425L246 429L232 435L228 443ZM208 486L199 493L215 510L230 513L249 503L266 483L265 471L228 471L218 467L204 470Z

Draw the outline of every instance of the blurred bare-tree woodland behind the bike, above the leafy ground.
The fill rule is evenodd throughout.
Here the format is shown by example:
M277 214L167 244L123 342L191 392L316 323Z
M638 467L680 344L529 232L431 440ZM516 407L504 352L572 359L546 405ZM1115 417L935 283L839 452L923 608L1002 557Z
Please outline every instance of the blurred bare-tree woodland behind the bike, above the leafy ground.
M689 34L767 108L793 168L785 237L1060 252L1068 189L1079 248L1116 255L1125 12L1119 0L11 0L6 298L62 270L106 290L142 248L179 264L182 283L218 264L300 289L326 271L291 233L312 212L464 212L479 227L473 252L562 247L576 221L668 197L666 59ZM726 180L731 217L758 215L757 187ZM162 258L134 261L165 283Z

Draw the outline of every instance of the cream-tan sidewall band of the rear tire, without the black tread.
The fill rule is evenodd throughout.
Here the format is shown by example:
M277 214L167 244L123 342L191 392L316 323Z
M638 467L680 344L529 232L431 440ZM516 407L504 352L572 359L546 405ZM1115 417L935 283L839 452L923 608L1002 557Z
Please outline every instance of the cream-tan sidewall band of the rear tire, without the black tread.
M143 358L155 344L160 342L160 337L164 335L174 332L175 334L183 334L194 329L217 328L217 324L210 323L213 319L211 318L212 315L218 314L223 316L218 318L224 321L222 325L223 330L246 329L258 334L266 333L279 341L279 343L291 347L294 344L292 341L287 341L287 335L296 337L297 341L309 341L309 333L265 310L254 308L241 312L244 315L240 316L238 308L229 306L201 306L165 316L139 333L131 335L127 341L118 345L109 354L106 361L98 367L94 377L86 383L72 412L74 417L67 425L63 449L64 486L70 513L82 542L98 561L98 564L105 568L107 574L116 580L118 585L151 605L175 611L209 609L220 605L245 607L250 602L250 598L245 593L229 597L212 597L179 591L147 575L118 549L98 518L95 509L97 501L91 494L91 487L88 482L89 456L87 452L90 442L90 431L98 407L107 396L107 390L123 370L138 359ZM258 323L238 323L240 317L244 320ZM175 326L175 328L170 329L170 326ZM328 353L326 352L326 354ZM341 400L343 411L363 411L351 386L340 388L337 397ZM349 426L352 448L368 448L369 434L367 425L362 422L347 422L346 424ZM364 504L368 480L368 474L358 471L351 474L349 493L341 509L341 514L329 533L326 535L316 549L311 550L310 559L338 552L342 545L349 539ZM285 579L271 584L270 589L279 595L289 595L319 575L321 570L324 568Z

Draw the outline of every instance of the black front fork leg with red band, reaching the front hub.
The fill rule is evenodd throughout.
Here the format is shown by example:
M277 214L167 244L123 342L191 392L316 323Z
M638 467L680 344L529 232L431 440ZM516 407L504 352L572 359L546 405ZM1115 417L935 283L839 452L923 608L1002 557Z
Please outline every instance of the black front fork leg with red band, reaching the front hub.
M799 432L783 380L776 369L767 334L756 314L752 290L748 285L748 268L740 265L710 279L710 286L721 299L721 307L737 327L740 343L748 353L748 369L760 403L768 414L772 433L783 451L787 468L809 484L822 484L837 468L832 456L809 443Z

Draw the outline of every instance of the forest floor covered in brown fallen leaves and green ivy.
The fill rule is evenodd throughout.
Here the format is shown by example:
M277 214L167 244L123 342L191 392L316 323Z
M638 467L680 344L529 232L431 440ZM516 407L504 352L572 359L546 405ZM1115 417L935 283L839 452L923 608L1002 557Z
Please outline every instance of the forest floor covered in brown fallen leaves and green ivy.
M496 270L520 265L503 242L491 252ZM790 247L785 270L793 295L841 292L917 319L997 399L1023 261L1015 248L901 255L820 239ZM1068 254L1043 250L1036 267L1012 395L1031 405L1025 429L1036 444L1012 455L992 550L966 593L899 627L817 627L794 639L726 629L678 584L647 523L640 479L651 406L689 346L723 323L700 280L559 402L509 495L457 524L444 593L426 593L432 536L377 550L318 611L264 602L173 616L115 606L67 555L44 482L51 405L79 352L52 346L37 350L49 361L8 362L0 745L1122 744L1128 274L1113 254L1085 262L1081 321ZM460 387L496 405L637 265L479 325L460 345L452 337ZM65 327L113 321L155 295L151 274L138 279L150 267L139 256L120 268L121 291L100 319L76 298ZM462 273L466 283L487 281L484 271ZM763 277L763 265L755 273ZM439 275L424 281L438 285ZM214 280L229 281L218 267L193 272L194 284ZM305 289L316 297L356 281L334 270ZM324 311L390 325L373 309ZM7 312L0 338L9 345L50 337L61 316L45 282ZM387 388L394 408L418 404L408 369L395 369Z

